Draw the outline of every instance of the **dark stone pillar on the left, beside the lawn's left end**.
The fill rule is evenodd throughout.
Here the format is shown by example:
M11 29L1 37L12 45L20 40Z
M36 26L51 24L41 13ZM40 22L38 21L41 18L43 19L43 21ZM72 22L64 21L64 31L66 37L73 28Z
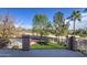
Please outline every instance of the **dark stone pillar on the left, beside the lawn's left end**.
M22 50L23 51L30 50L30 35L22 35Z

